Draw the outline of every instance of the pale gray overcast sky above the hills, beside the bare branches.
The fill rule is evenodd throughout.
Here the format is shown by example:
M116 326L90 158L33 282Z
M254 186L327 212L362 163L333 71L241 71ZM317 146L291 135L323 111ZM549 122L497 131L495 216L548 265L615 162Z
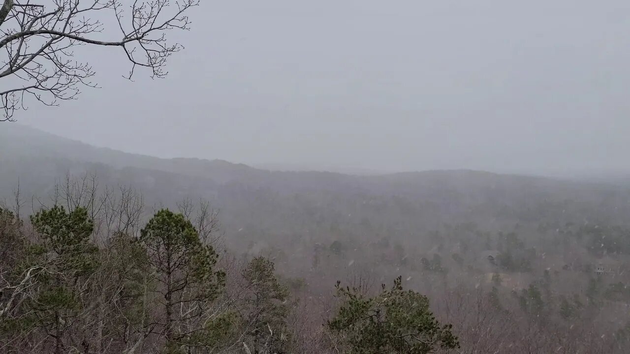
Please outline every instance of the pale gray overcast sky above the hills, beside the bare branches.
M93 49L101 89L18 120L161 157L630 170L627 0L202 1L192 20L166 79Z

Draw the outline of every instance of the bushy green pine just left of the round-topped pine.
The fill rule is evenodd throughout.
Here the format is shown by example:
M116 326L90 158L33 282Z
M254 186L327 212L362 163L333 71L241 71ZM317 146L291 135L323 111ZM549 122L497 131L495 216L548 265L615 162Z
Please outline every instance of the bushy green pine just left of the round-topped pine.
M91 243L94 224L84 208L67 212L55 205L31 215L37 232L25 260L25 268L38 269L36 294L30 307L28 323L47 328L54 338L54 353L66 352L67 329L83 312L81 301L88 277L98 268L98 248Z

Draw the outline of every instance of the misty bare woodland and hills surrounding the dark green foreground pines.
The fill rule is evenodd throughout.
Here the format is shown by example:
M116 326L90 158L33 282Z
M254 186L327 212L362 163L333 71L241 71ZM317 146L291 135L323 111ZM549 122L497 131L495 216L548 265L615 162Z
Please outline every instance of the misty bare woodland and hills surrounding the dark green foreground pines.
M335 292L336 281L341 281L341 289L349 285L353 290L348 291L369 298L378 295L381 283L389 287L396 277L401 277L401 287L427 296L421 299L429 301L427 308L438 321L452 324L448 334L457 338L457 346L447 341L450 346L439 349L436 341L435 348L426 350L625 353L630 348L630 184L623 178L563 180L471 170L378 175L270 171L221 160L128 154L9 124L0 132L4 270L11 265L20 269L23 257L36 257L29 255L30 248L11 241L17 235L54 245L59 241L37 241L43 237L37 235L49 234L47 227L52 227L41 225L52 222L46 218L65 220L60 216L64 210L86 210L85 217L94 225L87 240L100 249L93 255L100 262L94 276L122 271L117 277L131 277L120 285L122 280L116 278L100 279L105 282L101 285L83 280L85 286L106 286L103 294L114 292L107 296L122 297L110 304L98 300L101 290L81 295L80 306L95 301L99 311L115 318L98 324L93 322L98 311L66 309L72 322L64 326L61 347L79 346L77 338L84 338L81 341L98 346L100 352L129 350L137 343L142 352L160 350L165 329L149 331L144 320L126 312L154 316L164 326L159 297L147 304L135 293L116 295L115 289L137 289L144 284L143 272L157 266L119 257L155 246L142 235L160 214L146 223L157 210L168 208L191 220L217 254L213 269L225 272L221 282L217 278L204 285L217 290L205 300L212 316L207 309L195 315L197 324L180 319L181 314L173 319L180 331L184 324L195 328L202 326L197 321L221 321L208 329L209 337L180 339L183 348L241 353L245 343L260 353L336 353L343 348L354 353L344 338L363 338L377 329L365 325L359 333L340 331L339 321L348 319L333 314L343 296L352 309L358 300ZM56 211L46 218L35 214L42 210ZM36 216L26 219L30 214ZM25 224L11 221L17 215ZM120 249L120 242L134 244L134 239L140 250ZM272 268L265 268L265 261L272 262ZM126 268L116 268L123 265ZM251 272L271 278L259 288L256 281L251 283ZM159 283L154 286L160 289ZM380 306L383 299L407 294L396 293L396 287L391 291L370 301ZM256 299L263 296L269 304L252 309L251 292L261 292ZM89 300L93 296L97 298ZM190 306L191 300L186 301ZM420 298L413 303L417 301ZM424 318L423 311L415 316ZM44 321L43 326L50 313L39 314L45 317L37 321ZM415 328L413 321L420 321L415 318L405 326ZM267 325L277 328L261 335L248 327L262 326L256 330L263 331ZM9 325L7 333L20 333L11 332L14 326ZM55 328L54 322L45 328ZM97 329L106 333L93 342L88 338ZM214 332L219 329L221 336ZM8 348L30 341L44 348L52 343L43 328L28 333ZM146 342L140 341L145 336ZM256 340L259 336L266 344ZM112 344L103 346L105 339Z

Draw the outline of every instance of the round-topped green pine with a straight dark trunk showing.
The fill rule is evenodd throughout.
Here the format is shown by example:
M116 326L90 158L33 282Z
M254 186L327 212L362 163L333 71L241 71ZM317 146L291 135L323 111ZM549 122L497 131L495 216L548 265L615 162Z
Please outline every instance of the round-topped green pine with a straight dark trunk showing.
M191 222L182 214L159 210L140 231L153 280L161 295L162 326L166 348L178 351L198 341L195 319L203 316L209 302L222 291L225 274L217 270L217 254L203 244ZM195 336L192 336L195 334Z

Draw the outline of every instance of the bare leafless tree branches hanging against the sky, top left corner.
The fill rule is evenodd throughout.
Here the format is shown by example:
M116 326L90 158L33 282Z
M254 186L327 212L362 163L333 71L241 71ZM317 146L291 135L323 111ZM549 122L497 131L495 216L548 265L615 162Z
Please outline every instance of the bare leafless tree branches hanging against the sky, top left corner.
M131 63L164 77L166 60L182 49L166 32L187 30L185 11L199 0L0 0L0 122L13 120L25 99L44 105L74 100L91 81L91 64L74 58L80 45L119 47ZM118 35L115 33L118 32ZM110 37L110 40L103 40Z

